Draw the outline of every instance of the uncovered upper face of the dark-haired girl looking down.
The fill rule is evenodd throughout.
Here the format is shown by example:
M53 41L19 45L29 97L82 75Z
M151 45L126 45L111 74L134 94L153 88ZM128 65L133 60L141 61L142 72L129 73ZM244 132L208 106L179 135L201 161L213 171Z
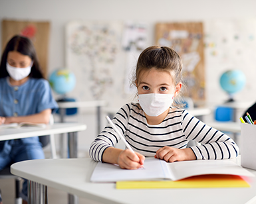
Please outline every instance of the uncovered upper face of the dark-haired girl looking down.
M27 68L31 65L31 58L17 51L10 51L7 55L7 62L15 68Z

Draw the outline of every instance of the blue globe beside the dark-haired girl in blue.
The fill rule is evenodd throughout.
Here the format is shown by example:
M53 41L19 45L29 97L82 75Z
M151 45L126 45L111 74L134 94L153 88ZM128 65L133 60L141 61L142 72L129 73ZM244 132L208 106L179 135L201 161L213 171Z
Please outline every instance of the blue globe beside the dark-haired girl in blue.
M74 89L76 77L69 70L59 69L50 75L49 82L53 91L64 95Z

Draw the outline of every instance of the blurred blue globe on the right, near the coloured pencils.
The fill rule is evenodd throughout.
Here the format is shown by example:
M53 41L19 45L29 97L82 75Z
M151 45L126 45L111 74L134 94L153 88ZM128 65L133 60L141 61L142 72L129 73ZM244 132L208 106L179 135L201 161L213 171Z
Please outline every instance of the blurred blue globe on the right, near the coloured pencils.
M229 101L233 101L233 94L241 91L245 86L245 75L241 70L228 70L219 80L221 88L229 94Z

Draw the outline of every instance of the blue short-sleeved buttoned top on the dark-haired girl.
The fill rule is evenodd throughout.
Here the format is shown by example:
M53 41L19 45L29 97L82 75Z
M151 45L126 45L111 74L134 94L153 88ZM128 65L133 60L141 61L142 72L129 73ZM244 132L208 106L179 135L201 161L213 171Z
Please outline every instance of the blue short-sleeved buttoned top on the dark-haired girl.
M45 109L55 111L57 108L47 80L29 78L22 85L13 86L9 83L9 77L0 79L1 117L33 115Z

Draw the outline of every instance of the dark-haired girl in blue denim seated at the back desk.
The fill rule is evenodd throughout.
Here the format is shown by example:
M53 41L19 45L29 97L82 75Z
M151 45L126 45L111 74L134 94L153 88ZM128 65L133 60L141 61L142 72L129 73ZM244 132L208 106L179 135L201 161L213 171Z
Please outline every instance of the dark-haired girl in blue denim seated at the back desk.
M43 79L33 43L14 36L3 51L0 64L0 125L49 123L54 109L57 103L48 81ZM38 137L0 142L0 170L13 162L43 158ZM21 197L27 201L27 180Z

